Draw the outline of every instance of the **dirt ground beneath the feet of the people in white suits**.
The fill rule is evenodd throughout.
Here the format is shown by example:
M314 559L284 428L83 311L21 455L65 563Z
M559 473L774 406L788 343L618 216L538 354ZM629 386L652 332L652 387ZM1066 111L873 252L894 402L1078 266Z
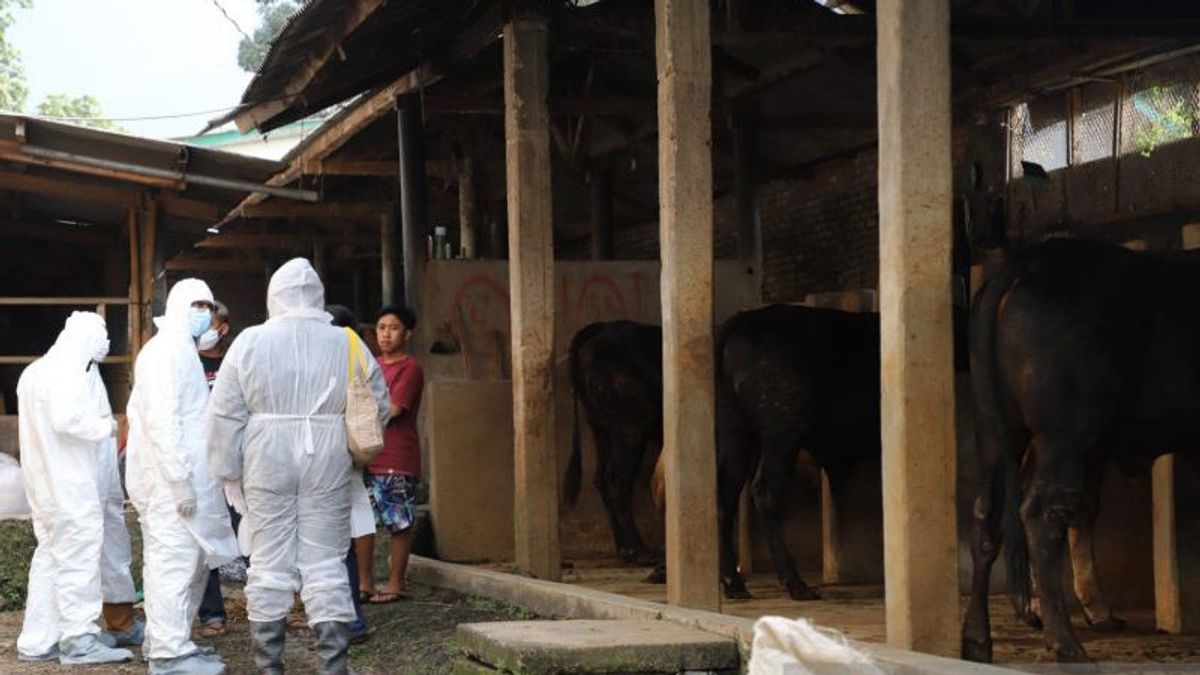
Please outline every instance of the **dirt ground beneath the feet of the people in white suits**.
M361 675L406 673L449 673L454 656L451 641L458 623L480 621L516 621L534 619L523 610L492 601L462 596L440 589L410 586L412 597L385 605L370 605L367 615L374 633L370 641L350 647L350 668ZM197 638L198 644L210 644L224 658L230 675L253 673L250 627L246 622L241 589L226 586L226 609L229 632L215 640ZM17 661L17 634L20 633L22 613L0 613L0 673L12 675L43 675L71 669L54 663L22 663ZM137 656L140 652L134 651ZM288 673L317 673L319 659L313 651L308 631L289 632L284 665ZM142 674L140 662L88 668L89 674Z

